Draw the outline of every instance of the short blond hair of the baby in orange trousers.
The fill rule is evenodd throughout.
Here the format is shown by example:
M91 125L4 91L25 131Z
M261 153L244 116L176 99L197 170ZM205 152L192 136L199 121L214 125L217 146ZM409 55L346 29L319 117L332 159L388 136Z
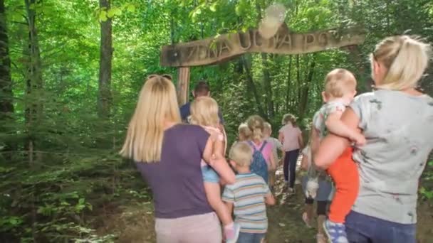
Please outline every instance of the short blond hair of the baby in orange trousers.
M352 72L336 68L325 77L325 95L335 98L343 97L348 92L356 90L356 79Z

